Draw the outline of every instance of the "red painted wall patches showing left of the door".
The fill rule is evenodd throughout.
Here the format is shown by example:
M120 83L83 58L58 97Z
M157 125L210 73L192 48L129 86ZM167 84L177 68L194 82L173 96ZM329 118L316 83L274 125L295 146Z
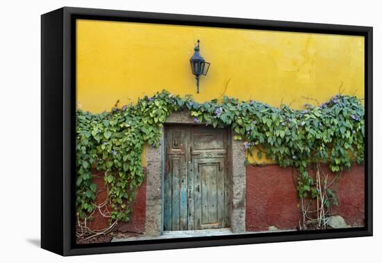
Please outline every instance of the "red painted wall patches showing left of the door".
M97 173L97 171L92 170L92 174L92 181L94 184L97 184L98 194L96 204L99 205L106 200L106 186L103 181L103 173ZM144 175L144 177L146 178L146 175ZM117 230L120 232L144 232L144 223L146 221L146 180L144 180L142 185L135 191L135 198L131 205L131 209L130 221L119 222ZM109 211L111 211L111 209L109 209ZM90 221L89 228L92 230L101 230L108 227L109 218L103 217L98 209L94 212L93 217L94 220Z

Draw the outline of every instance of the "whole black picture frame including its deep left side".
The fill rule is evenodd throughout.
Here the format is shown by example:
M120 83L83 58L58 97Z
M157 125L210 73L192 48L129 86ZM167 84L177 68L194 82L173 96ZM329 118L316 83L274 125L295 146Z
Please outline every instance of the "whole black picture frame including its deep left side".
M97 19L365 37L365 227L77 245L75 20ZM41 247L60 255L372 236L372 27L64 7L41 16Z

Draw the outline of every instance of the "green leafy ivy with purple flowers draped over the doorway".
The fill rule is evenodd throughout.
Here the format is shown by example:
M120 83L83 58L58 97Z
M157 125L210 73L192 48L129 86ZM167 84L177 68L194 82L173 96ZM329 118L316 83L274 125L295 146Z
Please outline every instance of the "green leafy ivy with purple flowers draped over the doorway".
M335 95L319 106L293 110L232 97L199 103L191 96L180 97L163 90L145 96L136 104L99 114L76 111L76 209L86 218L95 208L97 186L91 168L104 173L108 199L116 221L128 221L135 190L144 180L142 150L145 144L158 147L161 128L169 114L188 109L194 122L213 127L232 127L235 139L244 140L251 152L263 146L262 154L283 167L299 171L299 198L317 196L309 164L329 164L340 173L364 159L364 107L360 99ZM263 152L263 153L262 153Z

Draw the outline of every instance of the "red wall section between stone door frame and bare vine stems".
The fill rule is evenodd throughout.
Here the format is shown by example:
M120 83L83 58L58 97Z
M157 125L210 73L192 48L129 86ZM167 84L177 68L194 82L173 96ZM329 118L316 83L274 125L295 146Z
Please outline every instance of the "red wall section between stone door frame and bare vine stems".
M300 218L299 200L292 180L292 168L276 165L247 166L246 229L296 228Z

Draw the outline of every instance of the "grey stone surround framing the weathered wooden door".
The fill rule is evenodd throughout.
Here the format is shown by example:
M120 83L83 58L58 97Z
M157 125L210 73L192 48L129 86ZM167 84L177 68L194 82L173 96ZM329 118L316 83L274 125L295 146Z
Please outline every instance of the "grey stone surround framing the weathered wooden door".
M165 120L161 132L160 146L146 146L146 222L144 235L158 237L163 234L164 216L164 175L165 175L165 127L167 125L206 125L204 122L194 122L190 111L176 111ZM229 169L226 177L231 184L229 222L231 232L245 232L245 149L244 141L234 140L234 132L227 128L229 140L227 156ZM190 231L190 230L188 230ZM192 231L192 230L191 230Z

